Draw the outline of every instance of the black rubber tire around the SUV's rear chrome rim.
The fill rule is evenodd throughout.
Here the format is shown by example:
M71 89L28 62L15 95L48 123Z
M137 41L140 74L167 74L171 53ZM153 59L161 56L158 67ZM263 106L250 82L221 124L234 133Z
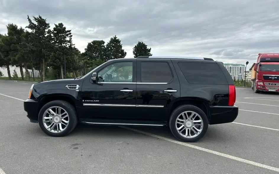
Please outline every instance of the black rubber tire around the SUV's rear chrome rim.
M181 136L178 131L176 130L176 118L185 111L193 111L196 112L197 114L200 115L200 117L202 118L203 121L203 129L201 131L201 133L199 133L199 135L197 135L194 138L186 138ZM186 105L181 105L179 107L177 107L176 109L173 110L173 112L171 113L171 117L169 120L169 127L171 129L171 133L173 134L173 136L177 139L179 139L180 141L184 141L184 142L196 142L199 141L203 136L205 136L205 133L207 132L207 128L208 128L208 119L207 116L205 115L205 113L202 111L202 109L194 106L194 105L190 105L190 104L186 104Z

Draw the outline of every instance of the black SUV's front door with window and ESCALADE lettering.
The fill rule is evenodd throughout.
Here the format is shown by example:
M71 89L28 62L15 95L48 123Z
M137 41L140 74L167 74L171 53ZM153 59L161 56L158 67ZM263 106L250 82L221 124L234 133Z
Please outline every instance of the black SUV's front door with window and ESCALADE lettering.
M123 119L135 109L136 61L113 62L97 72L97 83L82 86L83 117Z

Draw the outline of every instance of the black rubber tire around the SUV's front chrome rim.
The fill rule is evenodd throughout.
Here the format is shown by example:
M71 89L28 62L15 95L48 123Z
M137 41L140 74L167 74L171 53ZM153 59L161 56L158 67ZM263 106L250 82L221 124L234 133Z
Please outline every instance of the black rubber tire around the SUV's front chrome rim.
M63 108L69 115L69 124L67 126L67 128L59 133L53 133L48 131L45 126L43 125L43 114L44 112L53 106L57 106L57 107L61 107ZM47 104L45 104L40 112L39 112L39 116L38 116L38 123L40 125L40 128L42 129L42 131L44 133L46 133L49 136L53 136L53 137L61 137L61 136L66 136L69 133L71 133L74 128L77 126L77 122L78 122L78 118L77 118L77 112L76 109L74 108L74 106L72 104L70 104L69 102L66 102L64 100L54 100L51 102L48 102Z

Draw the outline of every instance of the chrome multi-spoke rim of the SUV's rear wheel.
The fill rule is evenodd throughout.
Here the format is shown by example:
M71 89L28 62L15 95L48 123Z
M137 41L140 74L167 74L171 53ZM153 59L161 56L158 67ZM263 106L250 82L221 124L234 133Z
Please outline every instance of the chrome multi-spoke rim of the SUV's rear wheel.
M185 111L176 118L176 130L185 138L194 138L202 132L202 117L193 111Z

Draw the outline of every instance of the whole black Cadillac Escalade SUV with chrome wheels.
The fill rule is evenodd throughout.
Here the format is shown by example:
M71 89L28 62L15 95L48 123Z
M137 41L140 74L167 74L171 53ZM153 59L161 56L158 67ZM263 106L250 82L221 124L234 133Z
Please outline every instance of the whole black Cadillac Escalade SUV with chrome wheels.
M24 110L49 136L77 123L168 126L185 142L208 125L233 122L236 89L222 62L211 58L140 56L110 60L75 79L35 83Z

